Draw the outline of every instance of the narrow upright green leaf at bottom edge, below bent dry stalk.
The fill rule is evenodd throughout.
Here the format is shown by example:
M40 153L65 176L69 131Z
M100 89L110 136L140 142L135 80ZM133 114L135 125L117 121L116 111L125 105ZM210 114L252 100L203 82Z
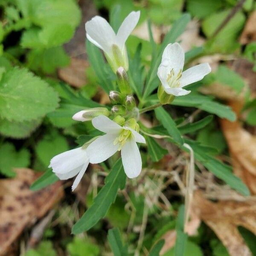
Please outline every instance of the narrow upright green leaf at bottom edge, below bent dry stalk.
M184 233L184 205L179 208L177 220L176 220L176 242L174 247L175 256L183 256L185 253L187 235Z

